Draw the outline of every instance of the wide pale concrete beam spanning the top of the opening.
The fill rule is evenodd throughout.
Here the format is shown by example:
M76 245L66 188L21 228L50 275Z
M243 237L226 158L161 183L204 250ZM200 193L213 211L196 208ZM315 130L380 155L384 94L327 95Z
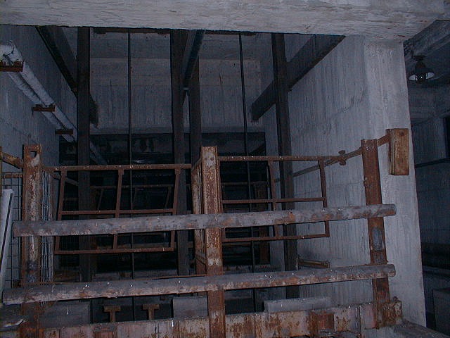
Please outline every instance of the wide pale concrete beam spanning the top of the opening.
M403 40L444 15L443 0L15 0L1 6L2 23L103 27L164 27L305 34L366 35Z

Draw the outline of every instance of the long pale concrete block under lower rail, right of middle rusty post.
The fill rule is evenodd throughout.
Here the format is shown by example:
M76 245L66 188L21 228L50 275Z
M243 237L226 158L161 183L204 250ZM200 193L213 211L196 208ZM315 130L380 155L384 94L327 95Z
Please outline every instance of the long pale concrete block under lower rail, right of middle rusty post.
M264 311L274 313L327 308L330 303L330 297L277 299L275 301L264 301Z

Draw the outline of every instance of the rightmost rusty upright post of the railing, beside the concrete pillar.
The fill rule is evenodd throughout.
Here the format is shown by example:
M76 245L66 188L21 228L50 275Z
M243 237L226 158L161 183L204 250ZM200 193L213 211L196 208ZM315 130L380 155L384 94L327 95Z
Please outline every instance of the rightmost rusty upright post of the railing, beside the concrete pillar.
M362 139L362 158L364 169L364 189L366 205L383 204L380 184L380 167L378 164L378 142L376 139ZM385 223L382 217L368 218L368 241L371 264L386 264ZM372 280L373 304L377 315L377 327L384 326L383 307L390 300L389 281L387 278Z

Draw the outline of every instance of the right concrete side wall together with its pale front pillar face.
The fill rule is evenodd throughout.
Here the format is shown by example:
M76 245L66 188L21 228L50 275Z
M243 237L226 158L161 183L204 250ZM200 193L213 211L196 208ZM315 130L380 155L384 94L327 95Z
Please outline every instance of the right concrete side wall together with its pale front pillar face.
M402 46L395 42L375 43L363 37L347 37L341 42L290 92L293 153L352 151L360 146L360 139L382 137L386 128L409 127L403 60ZM410 165L413 168L412 152ZM294 170L298 168L299 165ZM413 170L406 177L394 177L387 171L387 149L383 146L380 148L383 202L397 205L397 215L385 219L387 258L397 269L397 276L390 279L391 296L403 301L406 319L423 324L415 177ZM361 158L348 161L345 167L328 167L326 173L330 206L365 204ZM296 196L319 193L314 175L317 174L295 179ZM306 231L314 231L315 227L311 225ZM331 266L368 263L366 222L333 223L330 239L302 241L299 250L302 257L327 260ZM304 287L302 292L305 296L329 294L333 303L369 301L371 283Z

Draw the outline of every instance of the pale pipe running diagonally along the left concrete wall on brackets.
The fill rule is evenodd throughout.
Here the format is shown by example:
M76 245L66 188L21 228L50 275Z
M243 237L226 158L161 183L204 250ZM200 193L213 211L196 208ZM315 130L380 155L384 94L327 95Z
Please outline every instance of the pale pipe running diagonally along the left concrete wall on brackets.
M33 104L41 104L44 106L55 105L53 113L43 111L44 116L56 127L56 129L72 129L73 134L64 134L63 137L68 142L75 142L77 140L77 127L69 120L67 115L56 106L55 101L46 92L44 86L37 79L32 72L30 65L23 61L20 51L15 47L13 42L0 43L0 60L10 61L11 63L20 61L23 63L23 71L18 73L8 72L9 77L13 80L16 86L33 102ZM101 156L100 152L90 143L91 157L98 164L106 164L106 161Z

